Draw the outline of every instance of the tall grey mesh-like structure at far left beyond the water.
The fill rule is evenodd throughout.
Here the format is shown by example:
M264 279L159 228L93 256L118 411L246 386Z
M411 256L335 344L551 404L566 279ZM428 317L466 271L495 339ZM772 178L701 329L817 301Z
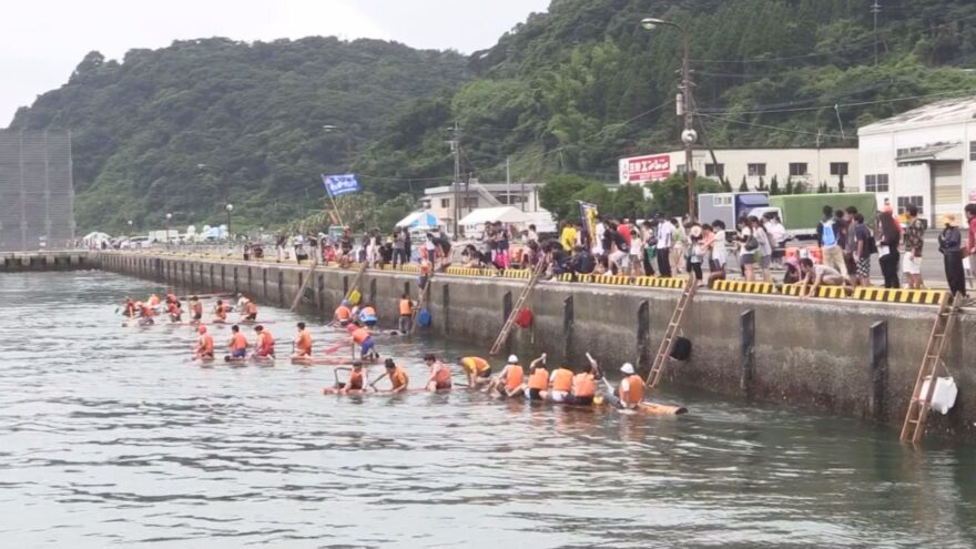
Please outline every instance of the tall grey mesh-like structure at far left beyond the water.
M65 247L74 238L71 135L0 131L0 251Z

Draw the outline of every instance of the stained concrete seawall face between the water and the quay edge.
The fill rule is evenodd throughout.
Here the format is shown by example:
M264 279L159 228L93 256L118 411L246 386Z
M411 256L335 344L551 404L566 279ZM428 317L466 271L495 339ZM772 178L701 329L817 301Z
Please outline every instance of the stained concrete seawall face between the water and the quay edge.
M105 271L197 293L240 291L284 307L309 274L307 266L181 256L98 253L92 260ZM331 317L355 277L353 270L317 268L305 306ZM438 274L430 329L487 349L523 284ZM416 297L418 286L413 274L367 271L359 288L392 324L400 294ZM606 364L639 363L645 373L679 295L678 289L541 283L531 299L533 325L516 328L510 347L541 348L573 365L584 364L589 350ZM664 383L899 427L935 313L934 306L703 291L683 325L692 357L672 363ZM976 440L974 328L976 316L963 314L948 335L944 358L959 397L947 416L929 416L929 435Z

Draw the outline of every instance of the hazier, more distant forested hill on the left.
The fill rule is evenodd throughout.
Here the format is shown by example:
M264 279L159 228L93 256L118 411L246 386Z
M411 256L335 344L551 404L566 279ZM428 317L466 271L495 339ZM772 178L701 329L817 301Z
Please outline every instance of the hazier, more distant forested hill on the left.
M82 230L157 228L166 212L218 223L227 194L241 226L272 226L304 215L323 196L319 173L345 172L399 106L455 87L466 67L334 38L183 41L121 62L92 52L11 128L72 131Z

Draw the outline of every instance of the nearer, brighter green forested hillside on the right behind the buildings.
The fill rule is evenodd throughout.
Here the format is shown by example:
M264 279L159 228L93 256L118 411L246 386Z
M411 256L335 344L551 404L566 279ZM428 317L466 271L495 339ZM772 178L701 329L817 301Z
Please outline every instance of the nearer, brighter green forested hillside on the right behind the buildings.
M449 174L445 126L458 120L464 171L482 181L504 177L509 155L520 179L616 181L619 156L680 146L680 33L644 30L644 17L688 29L713 146L813 146L819 132L856 146L858 125L976 91L960 70L976 67L976 2L881 4L875 34L867 0L556 0L472 55L476 79L399 116L362 166Z

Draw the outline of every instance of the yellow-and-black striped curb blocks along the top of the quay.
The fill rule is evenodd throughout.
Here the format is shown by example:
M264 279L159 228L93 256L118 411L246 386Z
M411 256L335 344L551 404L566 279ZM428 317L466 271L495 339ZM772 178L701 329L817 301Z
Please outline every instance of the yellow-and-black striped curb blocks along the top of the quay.
M243 258L237 254L228 254L228 253L218 253L218 252L210 252L210 253L186 253L186 252L166 252L164 250L138 250L138 251L113 251L110 253L125 253L125 254L138 254L138 255L152 255L152 256L169 256L169 257L185 257L185 258L202 258L209 261L225 261L225 262L235 262L241 263ZM308 266L311 263L303 262L298 263L295 260L281 260L277 258L251 258L246 263L257 263L257 264L267 264L267 265L301 265ZM327 268L342 268L337 263L327 263L321 265ZM352 263L347 265L345 268L347 270L357 270L359 268L359 263ZM394 268L392 265L384 265L382 267L384 272L401 272L401 273L419 273L420 267L417 264L410 263L406 265L398 265L397 268ZM528 270L506 270L499 272L494 268L471 268L471 267L457 267L449 266L447 267L444 275L448 276L461 276L461 277L475 277L475 278L502 278L502 279L528 279L531 275L531 272ZM687 278L674 278L674 277L661 277L661 276L626 276L626 275L599 275L599 274L588 274L588 275L572 275L572 274L561 274L556 278L558 282L562 283L572 283L572 284L596 284L596 285L610 285L610 286L631 286L631 287L653 287L653 288L669 288L669 289L682 289L688 283ZM801 285L800 284L774 284L771 282L750 282L750 281L715 281L711 288L709 288L715 293L734 293L734 294L751 294L751 295L780 295L780 296L793 296L799 297ZM858 301L858 302L878 302L878 303L897 303L903 305L938 305L943 294L946 291L944 289L885 289L877 287L856 287L856 288L846 288L843 286L819 286L816 292L811 297L822 298L822 299L844 299L844 301Z

